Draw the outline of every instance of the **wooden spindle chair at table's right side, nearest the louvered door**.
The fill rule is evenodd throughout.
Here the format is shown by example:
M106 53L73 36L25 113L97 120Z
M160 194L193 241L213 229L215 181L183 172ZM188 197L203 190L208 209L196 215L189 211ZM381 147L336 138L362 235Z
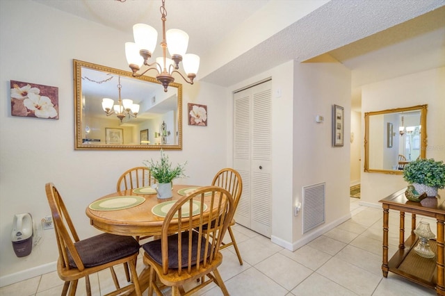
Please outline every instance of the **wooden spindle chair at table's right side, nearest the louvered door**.
M224 168L216 173L216 175L213 177L211 185L222 187L230 192L230 194L234 198L236 211L236 207L238 206L239 200L241 199L241 194L243 193L243 180L241 179L240 174L232 168ZM236 245L235 236L232 231L232 226L234 226L235 223L235 220L232 219L230 221L229 227L227 228L227 230L229 231L231 242L222 242L220 249L225 249L226 247L230 247L233 245L236 256L238 256L239 264L243 265L243 259L241 258L241 254L239 252L238 245Z

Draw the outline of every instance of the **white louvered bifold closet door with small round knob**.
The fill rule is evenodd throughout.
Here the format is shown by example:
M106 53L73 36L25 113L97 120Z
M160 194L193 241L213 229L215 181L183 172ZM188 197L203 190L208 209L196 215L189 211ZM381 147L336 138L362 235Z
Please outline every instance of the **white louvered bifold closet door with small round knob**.
M271 99L270 81L234 94L234 169L243 179L235 219L267 237L272 231Z

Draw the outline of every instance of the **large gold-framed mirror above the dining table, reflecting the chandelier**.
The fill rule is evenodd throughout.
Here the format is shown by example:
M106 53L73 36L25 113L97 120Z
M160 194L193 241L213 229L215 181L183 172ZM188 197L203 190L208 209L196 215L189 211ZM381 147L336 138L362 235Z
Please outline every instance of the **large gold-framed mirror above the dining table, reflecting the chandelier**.
M154 77L81 60L73 65L76 150L182 149L180 83L170 83L164 92ZM108 113L103 99L113 100ZM131 99L138 110L120 99L127 105L125 99Z

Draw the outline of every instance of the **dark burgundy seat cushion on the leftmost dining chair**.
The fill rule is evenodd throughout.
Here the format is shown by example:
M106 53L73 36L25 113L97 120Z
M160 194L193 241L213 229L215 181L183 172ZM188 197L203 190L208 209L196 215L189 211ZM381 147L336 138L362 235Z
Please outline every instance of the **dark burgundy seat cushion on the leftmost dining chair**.
M117 236L102 233L85 240L74 242L74 246L86 268L102 265L139 252L139 243L132 236ZM68 252L70 266L77 268L76 263Z

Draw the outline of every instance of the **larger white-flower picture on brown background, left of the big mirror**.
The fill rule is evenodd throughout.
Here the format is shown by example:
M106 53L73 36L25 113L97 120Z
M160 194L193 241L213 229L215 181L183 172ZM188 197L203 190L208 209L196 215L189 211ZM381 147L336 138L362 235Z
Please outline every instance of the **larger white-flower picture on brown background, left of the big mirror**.
M11 115L58 120L58 88L10 81Z

